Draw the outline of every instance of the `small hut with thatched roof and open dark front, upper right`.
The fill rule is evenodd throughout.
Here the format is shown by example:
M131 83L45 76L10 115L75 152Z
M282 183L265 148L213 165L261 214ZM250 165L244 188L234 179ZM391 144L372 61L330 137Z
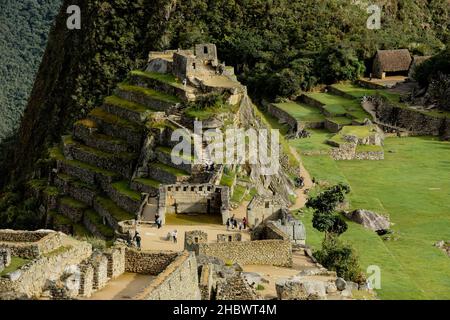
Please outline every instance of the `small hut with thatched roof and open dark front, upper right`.
M390 75L408 76L411 62L408 49L378 50L373 61L372 74L379 79Z

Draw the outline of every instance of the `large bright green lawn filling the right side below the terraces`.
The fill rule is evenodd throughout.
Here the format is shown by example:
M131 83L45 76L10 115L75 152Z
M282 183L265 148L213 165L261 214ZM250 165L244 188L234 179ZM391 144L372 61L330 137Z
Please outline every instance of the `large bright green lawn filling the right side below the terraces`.
M301 149L301 145L298 146ZM381 268L381 299L450 299L450 259L434 247L449 239L450 143L435 138L387 138L383 161L334 161L329 156L304 156L311 176L346 182L352 209L388 213L397 241L349 222L342 238L355 247L361 265ZM313 247L322 234L302 218Z

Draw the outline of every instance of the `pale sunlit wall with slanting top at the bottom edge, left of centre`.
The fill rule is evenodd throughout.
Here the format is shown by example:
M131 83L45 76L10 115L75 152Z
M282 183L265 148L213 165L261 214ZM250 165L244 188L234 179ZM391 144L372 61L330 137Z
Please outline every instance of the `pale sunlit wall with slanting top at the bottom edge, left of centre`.
M193 253L178 254L135 300L200 300L197 260Z

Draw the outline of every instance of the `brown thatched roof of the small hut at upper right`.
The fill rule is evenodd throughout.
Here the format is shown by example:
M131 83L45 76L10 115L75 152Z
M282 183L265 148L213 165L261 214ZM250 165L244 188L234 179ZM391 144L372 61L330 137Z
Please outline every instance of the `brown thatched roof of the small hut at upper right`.
M383 72L398 72L408 71L411 61L411 54L407 49L378 50L374 63Z

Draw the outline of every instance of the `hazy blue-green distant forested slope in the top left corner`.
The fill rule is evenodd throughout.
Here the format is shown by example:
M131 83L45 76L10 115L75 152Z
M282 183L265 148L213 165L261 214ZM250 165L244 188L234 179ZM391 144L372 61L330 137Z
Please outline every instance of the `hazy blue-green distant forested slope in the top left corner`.
M19 125L61 3L61 0L0 2L0 141L12 135Z

